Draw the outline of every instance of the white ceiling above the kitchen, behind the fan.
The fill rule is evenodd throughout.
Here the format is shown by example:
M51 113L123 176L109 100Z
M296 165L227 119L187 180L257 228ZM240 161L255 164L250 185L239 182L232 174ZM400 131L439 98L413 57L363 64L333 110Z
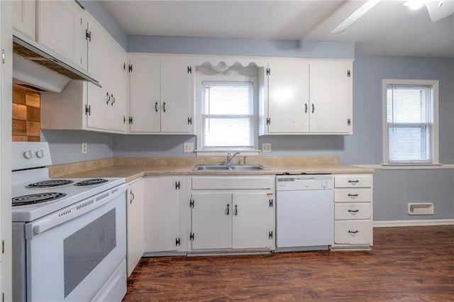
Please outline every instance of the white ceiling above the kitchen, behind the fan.
M128 35L355 42L357 55L454 57L454 15L382 0L331 34L365 1L102 1Z

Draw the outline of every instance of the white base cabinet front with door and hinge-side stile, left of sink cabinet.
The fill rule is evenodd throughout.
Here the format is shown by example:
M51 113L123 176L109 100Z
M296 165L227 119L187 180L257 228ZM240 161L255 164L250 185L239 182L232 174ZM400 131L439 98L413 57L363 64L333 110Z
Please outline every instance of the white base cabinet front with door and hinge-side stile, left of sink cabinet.
M145 177L145 252L186 252L186 177ZM188 211L184 211L184 209Z

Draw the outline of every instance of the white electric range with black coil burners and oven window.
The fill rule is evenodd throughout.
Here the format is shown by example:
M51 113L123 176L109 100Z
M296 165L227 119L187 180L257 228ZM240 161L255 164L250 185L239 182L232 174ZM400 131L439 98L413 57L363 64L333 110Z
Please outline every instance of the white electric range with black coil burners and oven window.
M122 177L50 179L47 142L13 142L13 301L121 301Z

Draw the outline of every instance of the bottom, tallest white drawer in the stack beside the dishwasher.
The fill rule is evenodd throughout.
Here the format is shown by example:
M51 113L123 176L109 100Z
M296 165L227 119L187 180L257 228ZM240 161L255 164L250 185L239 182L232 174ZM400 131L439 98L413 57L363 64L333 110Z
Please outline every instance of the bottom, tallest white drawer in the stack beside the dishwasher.
M334 243L339 245L371 245L372 220L335 221Z

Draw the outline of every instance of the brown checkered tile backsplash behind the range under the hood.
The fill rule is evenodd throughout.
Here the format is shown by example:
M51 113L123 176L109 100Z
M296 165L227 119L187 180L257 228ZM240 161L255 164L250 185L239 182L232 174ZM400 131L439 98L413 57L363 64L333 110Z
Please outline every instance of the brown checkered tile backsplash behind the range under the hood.
M13 142L40 141L40 94L13 86Z

